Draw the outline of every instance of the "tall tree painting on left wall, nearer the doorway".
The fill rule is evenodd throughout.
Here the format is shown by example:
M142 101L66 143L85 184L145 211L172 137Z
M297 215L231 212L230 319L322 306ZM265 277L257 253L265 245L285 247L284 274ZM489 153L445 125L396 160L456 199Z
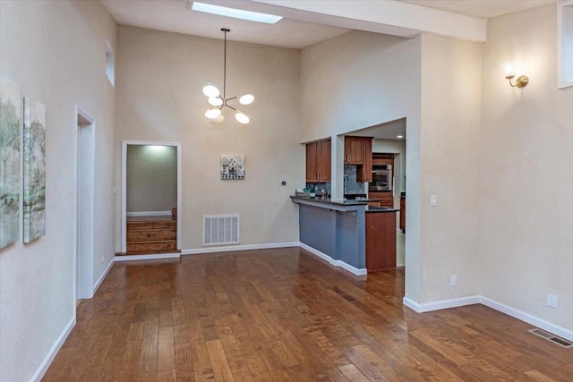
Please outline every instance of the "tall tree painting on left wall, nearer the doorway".
M24 98L24 243L46 233L46 106Z

